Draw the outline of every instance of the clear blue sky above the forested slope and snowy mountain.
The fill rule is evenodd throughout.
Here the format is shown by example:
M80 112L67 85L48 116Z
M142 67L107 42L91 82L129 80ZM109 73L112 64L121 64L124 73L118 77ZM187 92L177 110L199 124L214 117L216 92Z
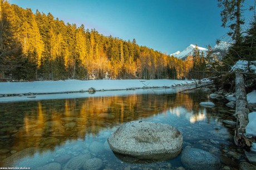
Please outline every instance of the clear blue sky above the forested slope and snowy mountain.
M254 0L248 0L254 1ZM10 0L35 13L50 12L65 23L83 24L105 36L136 39L168 54L190 44L215 45L227 29L221 27L217 0ZM224 37L223 37L224 36Z

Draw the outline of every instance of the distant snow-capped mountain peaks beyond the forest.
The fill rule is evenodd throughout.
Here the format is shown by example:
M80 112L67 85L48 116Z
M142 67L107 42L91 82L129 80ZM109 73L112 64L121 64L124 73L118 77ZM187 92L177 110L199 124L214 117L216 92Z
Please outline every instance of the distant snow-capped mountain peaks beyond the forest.
M212 48L213 54L215 54L219 59L222 59L223 56L225 56L225 54L228 52L228 49L231 45L232 45L231 43L220 41L218 44L216 44ZM194 49L195 49L195 45L190 44L190 46L186 47L182 52L177 51L173 54L170 54L170 56L174 56L180 59L185 59L186 57L193 55ZM202 51L204 52L204 54L206 54L206 52L208 51L208 49L203 47L198 47L198 49L200 51L200 54Z

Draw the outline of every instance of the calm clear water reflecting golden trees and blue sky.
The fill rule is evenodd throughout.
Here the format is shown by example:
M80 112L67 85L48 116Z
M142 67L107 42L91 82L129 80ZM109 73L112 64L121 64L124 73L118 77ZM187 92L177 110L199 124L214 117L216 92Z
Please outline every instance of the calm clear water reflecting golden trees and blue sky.
M111 133L125 122L140 120L170 124L183 134L183 148L204 149L219 157L222 167L238 169L239 160L245 159L244 152L233 143L234 129L223 124L225 119L235 121L234 109L223 101L209 99L210 92L203 90L188 94L173 93L172 89L156 91L0 103L0 167L36 169L48 164L42 169L53 165L56 169L83 169L83 156L99 158L100 169L183 167L180 156L162 162L128 163L112 153L106 142ZM205 101L216 105L199 106ZM50 164L53 162L59 164Z

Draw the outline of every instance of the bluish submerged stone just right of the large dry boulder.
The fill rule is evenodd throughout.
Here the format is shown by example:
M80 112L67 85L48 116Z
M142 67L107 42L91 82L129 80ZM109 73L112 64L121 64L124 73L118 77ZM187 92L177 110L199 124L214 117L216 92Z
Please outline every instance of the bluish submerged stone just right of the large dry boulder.
M186 148L182 152L181 162L189 169L203 170L203 169L220 169L219 158L198 148Z

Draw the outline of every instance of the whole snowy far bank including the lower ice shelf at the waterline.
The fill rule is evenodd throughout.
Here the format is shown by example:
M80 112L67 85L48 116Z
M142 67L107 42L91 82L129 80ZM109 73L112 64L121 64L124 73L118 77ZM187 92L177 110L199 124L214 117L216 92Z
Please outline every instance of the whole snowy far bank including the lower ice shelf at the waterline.
M10 94L40 94L36 98L27 98L27 96L11 96L0 97L0 102L17 102L17 101L32 101L41 99L60 99L60 98L81 98L92 96L112 96L112 95L127 95L153 92L151 89L140 89L135 91L113 91L113 90L126 90L131 88L144 88L144 87L171 87L176 84L186 84L191 81L179 80L93 80L93 81L79 81L79 80L66 80L66 81L38 81L38 82L5 82L0 83L0 95L7 96ZM95 94L89 93L66 93L66 92L85 92L89 88L95 88ZM171 89L170 89L171 90ZM157 92L156 89L154 89ZM52 94L47 94L52 93ZM61 94L56 94L61 93Z

